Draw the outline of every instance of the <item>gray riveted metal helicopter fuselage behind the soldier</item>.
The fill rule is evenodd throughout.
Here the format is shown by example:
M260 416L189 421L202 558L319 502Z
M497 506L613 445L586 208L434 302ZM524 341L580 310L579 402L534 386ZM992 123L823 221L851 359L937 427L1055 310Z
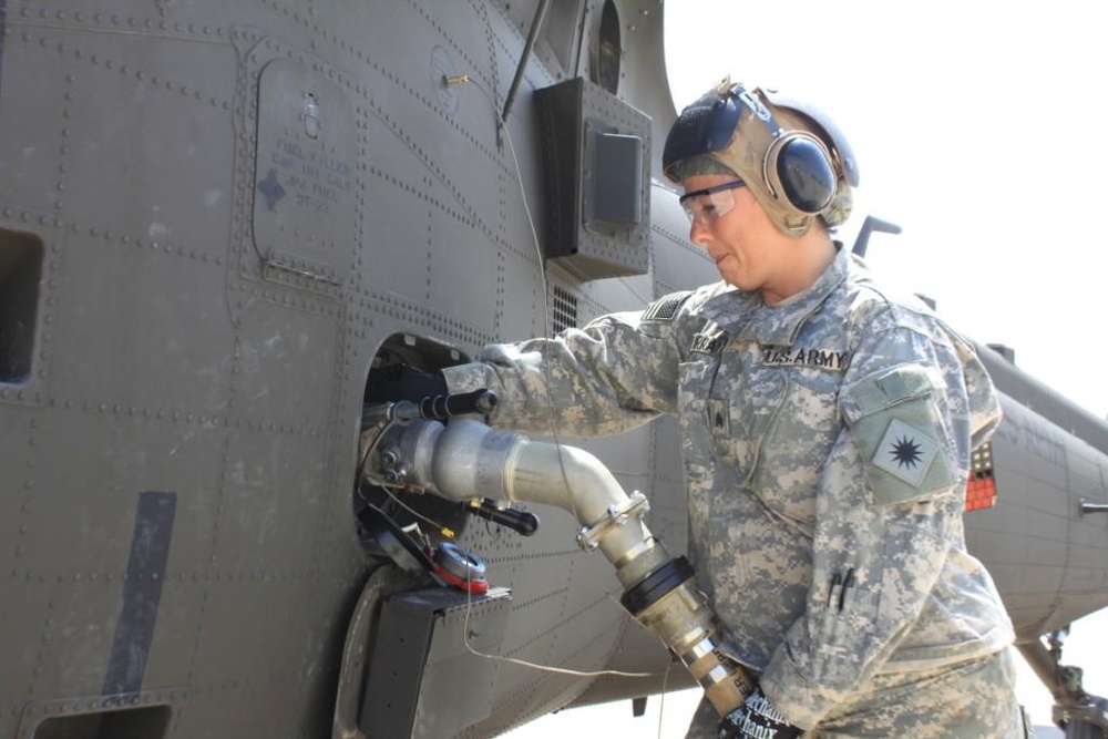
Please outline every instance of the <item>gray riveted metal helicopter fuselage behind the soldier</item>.
M356 484L371 369L718 279L660 175L663 14L0 0L0 738L486 737L691 685L566 512L406 495L486 565L460 596ZM967 538L1063 701L1040 636L1108 605L1108 425L981 352ZM560 441L684 551L673 420Z

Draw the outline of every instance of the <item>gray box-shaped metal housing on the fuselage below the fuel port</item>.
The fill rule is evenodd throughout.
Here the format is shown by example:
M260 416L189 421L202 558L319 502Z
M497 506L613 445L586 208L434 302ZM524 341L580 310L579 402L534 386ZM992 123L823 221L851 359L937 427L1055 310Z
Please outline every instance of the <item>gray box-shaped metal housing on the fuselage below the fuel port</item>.
M381 604L362 696L366 737L451 737L492 711L511 594L397 593Z

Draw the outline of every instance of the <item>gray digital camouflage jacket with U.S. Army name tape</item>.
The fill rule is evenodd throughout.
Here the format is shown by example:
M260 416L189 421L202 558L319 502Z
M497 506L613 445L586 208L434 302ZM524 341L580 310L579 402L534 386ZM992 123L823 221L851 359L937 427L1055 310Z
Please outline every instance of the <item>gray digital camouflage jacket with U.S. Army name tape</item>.
M690 558L802 728L880 673L996 651L1012 625L962 524L971 450L1001 420L973 348L850 255L767 306L724 284L445 370L495 425L606 434L680 421Z

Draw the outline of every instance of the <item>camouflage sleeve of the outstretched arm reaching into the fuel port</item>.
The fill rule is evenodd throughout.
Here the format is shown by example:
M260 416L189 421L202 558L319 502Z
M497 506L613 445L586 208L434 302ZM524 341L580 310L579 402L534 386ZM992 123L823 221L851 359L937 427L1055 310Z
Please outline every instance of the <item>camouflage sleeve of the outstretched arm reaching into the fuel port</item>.
M451 392L496 392L492 421L499 427L574 435L626 431L676 410L676 333L686 297L603 316L553 339L489 345L478 362L443 374Z

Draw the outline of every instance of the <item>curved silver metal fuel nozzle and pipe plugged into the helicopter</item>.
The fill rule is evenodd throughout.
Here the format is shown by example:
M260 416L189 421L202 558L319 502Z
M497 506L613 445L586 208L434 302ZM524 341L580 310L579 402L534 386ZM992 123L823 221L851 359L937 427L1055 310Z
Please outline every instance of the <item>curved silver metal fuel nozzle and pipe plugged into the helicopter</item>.
M372 443L392 455L394 464L384 471L403 471L411 490L459 503L526 501L571 512L583 526L577 543L601 552L615 567L624 607L685 664L717 712L727 716L742 705L752 680L728 654L726 628L697 589L693 565L670 556L650 534L643 522L646 497L637 491L628 495L599 460L583 449L534 441L472 419L444 425L392 415L387 425ZM366 471L371 474L372 465ZM490 506L478 510L491 520L512 520Z

